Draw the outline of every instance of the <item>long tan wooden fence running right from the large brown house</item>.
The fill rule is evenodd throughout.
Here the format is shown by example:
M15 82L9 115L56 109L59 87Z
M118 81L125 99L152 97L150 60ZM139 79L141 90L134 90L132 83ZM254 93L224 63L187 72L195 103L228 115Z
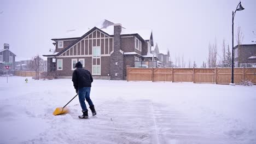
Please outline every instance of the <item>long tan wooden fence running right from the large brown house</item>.
M251 80L256 83L256 68L234 68L234 83ZM194 83L231 82L231 68L131 68L127 81L172 81Z

